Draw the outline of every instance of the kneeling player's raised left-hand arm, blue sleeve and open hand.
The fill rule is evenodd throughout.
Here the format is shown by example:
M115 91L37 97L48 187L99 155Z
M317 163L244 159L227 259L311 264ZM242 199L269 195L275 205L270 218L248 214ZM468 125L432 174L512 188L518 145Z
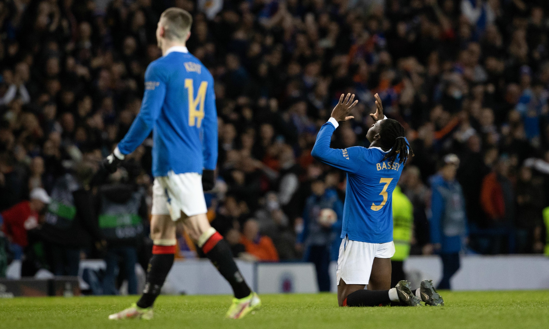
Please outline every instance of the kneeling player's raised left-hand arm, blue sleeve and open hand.
M355 163L350 160L348 149L330 149L330 141L335 128L339 126L338 121L347 121L353 116L349 113L358 103L358 100L353 101L355 95L347 94L345 99L344 94L341 94L338 105L335 105L332 111L332 116L328 122L324 123L316 137L315 146L312 148L311 155L328 165L343 169L344 171L354 172Z

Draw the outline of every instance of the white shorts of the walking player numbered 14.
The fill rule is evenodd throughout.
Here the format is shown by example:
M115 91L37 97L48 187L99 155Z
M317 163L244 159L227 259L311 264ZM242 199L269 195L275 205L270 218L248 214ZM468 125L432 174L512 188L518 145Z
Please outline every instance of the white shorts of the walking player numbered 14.
M151 213L170 215L175 221L180 219L181 212L188 217L208 212L202 190L202 175L170 171L167 176L155 177Z

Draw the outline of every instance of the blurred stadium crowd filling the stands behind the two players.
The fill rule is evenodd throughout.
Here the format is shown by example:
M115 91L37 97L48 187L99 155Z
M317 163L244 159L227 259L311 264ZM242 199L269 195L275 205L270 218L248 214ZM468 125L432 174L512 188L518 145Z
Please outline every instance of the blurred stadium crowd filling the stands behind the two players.
M161 55L156 24L172 6L193 14L187 47L216 81L208 216L235 256L337 259L345 174L311 149L348 92L359 100L355 119L341 123L333 148L368 146L374 93L406 128L415 156L399 185L413 205L412 254L440 251L446 230L433 232L429 220L443 206L466 213L458 251L544 251L549 2L99 3L0 1L0 211L25 274L75 274L80 258L103 257L113 263L108 293L117 256L128 269L147 264L152 139L111 177L99 162L139 112L144 71ZM449 164L457 172L446 173ZM464 204L441 195L444 181ZM122 206L126 221L109 217ZM317 221L325 208L335 223ZM178 241L180 256L197 255L185 235Z

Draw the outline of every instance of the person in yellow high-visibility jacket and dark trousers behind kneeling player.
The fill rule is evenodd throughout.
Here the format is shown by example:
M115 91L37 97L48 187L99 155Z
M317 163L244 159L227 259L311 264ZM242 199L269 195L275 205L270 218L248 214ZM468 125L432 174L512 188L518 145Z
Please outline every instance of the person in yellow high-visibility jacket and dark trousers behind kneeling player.
M395 254L391 257L391 287L406 280L404 260L410 256L410 243L413 239L413 206L402 193L400 185L393 190L393 241Z

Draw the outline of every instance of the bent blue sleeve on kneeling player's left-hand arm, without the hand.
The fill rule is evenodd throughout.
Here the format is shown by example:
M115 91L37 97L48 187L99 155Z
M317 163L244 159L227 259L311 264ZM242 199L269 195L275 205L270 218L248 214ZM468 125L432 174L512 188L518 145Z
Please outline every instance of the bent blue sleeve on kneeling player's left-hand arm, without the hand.
M355 157L352 157L352 149L330 149L330 141L332 141L332 134L335 131L335 127L332 123L324 123L320 127L320 131L316 136L315 146L313 146L311 155L324 163L335 168L343 169L346 172L354 173L357 171L360 165L355 162Z

